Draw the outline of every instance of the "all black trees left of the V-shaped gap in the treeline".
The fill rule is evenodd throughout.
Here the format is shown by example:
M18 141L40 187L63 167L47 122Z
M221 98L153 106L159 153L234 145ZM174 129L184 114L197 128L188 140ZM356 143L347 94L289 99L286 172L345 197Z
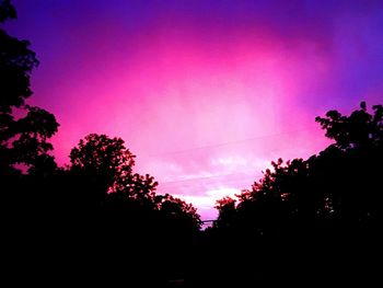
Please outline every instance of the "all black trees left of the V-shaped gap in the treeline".
M15 16L10 1L0 1L0 22ZM13 285L73 285L79 277L142 287L184 278L201 223L196 209L158 195L152 176L134 172L135 155L120 138L89 135L58 168L49 138L59 124L26 103L37 65L30 42L0 30L2 247Z

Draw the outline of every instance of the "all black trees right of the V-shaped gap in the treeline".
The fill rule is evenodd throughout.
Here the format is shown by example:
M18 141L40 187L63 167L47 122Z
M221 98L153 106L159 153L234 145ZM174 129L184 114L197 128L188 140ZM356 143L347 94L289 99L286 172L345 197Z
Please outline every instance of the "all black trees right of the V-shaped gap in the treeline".
M285 284L318 275L344 283L376 279L365 263L381 250L383 108L372 111L362 102L350 115L330 111L316 117L335 142L307 160L271 162L251 189L237 195L236 205L235 199L219 200L218 221L209 231L214 244L246 245L246 253L262 263L253 266L258 283L270 283L274 275ZM222 237L231 242L220 241ZM243 255L237 261L248 260Z

